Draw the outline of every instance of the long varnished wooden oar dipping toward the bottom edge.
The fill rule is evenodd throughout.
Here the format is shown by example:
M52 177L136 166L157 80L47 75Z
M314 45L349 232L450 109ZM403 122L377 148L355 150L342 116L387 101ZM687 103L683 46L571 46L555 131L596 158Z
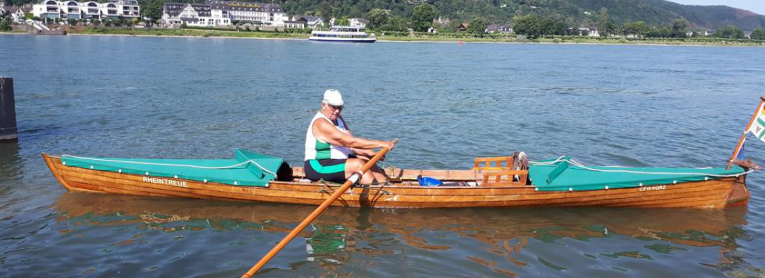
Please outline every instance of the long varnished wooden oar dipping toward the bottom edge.
M395 141L398 141L398 139L396 139ZM385 154L388 151L389 149L387 147L382 148L382 150L380 150L377 154L375 154L375 156L372 157L372 159L369 160L369 162L367 162L361 168L359 172L353 173L353 176L350 176L350 179L348 179L345 183L343 183L343 186L340 186L340 189L332 193L332 196L330 196L329 199L321 203L321 205L319 205L319 207L316 208L314 212L311 212L311 215L308 215L308 217L303 219L303 221L300 222L298 227L295 227L294 229L292 229L292 231L290 231L289 234L287 234L287 236L282 239L282 241L279 241L279 243L276 244L276 246L273 247L271 251L269 251L269 254L265 254L265 256L263 256L258 261L258 263L255 264L255 266L250 268L249 271L247 271L247 273L244 273L244 275L242 275L242 278L249 278L249 276L252 276L252 274L255 274L256 272L258 272L258 270L260 270L260 268L263 267L265 263L268 263L272 257L274 257L277 253L279 253L279 251L282 251L282 248L284 248L290 241L292 241L292 238L295 238L295 236L297 236L298 233L303 231L303 229L306 226L308 226L308 224L311 224L311 221L314 221L314 219L316 219L321 214L321 212L324 212L324 209L327 209L327 207L329 207L332 204L332 202L334 202L337 198L340 198L340 195L343 195L343 193L346 190L348 190L350 186L353 186L353 183L356 183L359 179L361 179L361 176L363 176L363 174L366 173L366 171L372 168L372 166L374 166L375 163L377 163L377 160L380 160L380 158L385 156Z

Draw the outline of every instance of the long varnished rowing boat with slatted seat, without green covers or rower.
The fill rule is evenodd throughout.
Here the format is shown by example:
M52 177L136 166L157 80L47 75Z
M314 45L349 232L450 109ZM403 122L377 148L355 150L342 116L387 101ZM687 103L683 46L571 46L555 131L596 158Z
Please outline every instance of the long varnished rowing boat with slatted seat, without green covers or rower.
M69 166L62 163L62 157L42 156L58 182L70 191L318 205L340 187L339 184L304 179L302 167L291 167L291 171L285 172L288 174L280 171L278 179L268 181L265 186L242 186L236 185L236 181L226 184L212 179L184 179L177 175L153 176L148 171L145 174L126 173L122 169L108 171L93 166ZM730 176L670 179L646 183L646 186L640 183L640 186L553 191L526 183L529 170L509 170L511 165L512 157L487 157L477 158L471 170L389 169L386 173L391 177L391 183L356 186L343 193L333 205L374 208L729 208L746 205L749 200L746 187L749 168L746 165L737 167L737 174ZM555 171L552 170L549 177L555 179ZM418 176L439 179L444 185L420 186Z

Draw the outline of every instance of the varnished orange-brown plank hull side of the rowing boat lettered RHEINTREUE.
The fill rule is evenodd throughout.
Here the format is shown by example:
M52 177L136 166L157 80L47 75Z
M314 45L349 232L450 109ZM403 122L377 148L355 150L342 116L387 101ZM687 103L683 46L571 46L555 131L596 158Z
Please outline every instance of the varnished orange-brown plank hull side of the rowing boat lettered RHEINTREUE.
M64 166L43 154L56 179L70 191L136 196L187 197L318 205L339 186L272 182L269 187L228 186ZM164 181L158 182L157 179ZM376 208L467 208L535 206L614 206L645 208L728 208L746 205L746 175L694 183L573 192L535 191L533 186L360 186L333 205ZM152 182L153 181L153 182ZM171 181L168 183L168 181Z

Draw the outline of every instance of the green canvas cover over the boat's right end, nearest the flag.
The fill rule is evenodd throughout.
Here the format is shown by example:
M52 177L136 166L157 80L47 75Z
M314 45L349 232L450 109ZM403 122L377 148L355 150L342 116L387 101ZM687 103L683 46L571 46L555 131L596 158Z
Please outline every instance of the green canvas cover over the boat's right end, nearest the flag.
M569 190L598 190L628 187L654 186L659 184L674 184L718 179L708 175L736 175L744 173L740 166L731 170L724 168L630 168L614 166L587 166L596 170L618 170L643 173L600 172L575 166L563 157L552 165L529 166L529 178L532 185L540 191L569 191ZM554 161L554 160L546 160Z

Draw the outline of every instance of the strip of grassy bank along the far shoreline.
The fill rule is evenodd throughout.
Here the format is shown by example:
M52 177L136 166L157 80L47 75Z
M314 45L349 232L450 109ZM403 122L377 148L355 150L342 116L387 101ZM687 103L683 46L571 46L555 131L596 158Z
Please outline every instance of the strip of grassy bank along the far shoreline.
M80 27L67 28L67 34L135 36L135 37L222 37L253 39L294 39L307 40L310 34L303 31L236 31L213 28L120 28L120 27ZM426 33L426 32L374 32L379 41L392 42L444 42L444 43L540 43L540 44L650 44L650 45L708 45L708 46L745 46L763 47L763 40L736 40L717 37L688 38L625 38L625 37L584 37L584 36L545 36L529 39L514 34L470 33ZM0 34L24 34L19 32L0 32Z

